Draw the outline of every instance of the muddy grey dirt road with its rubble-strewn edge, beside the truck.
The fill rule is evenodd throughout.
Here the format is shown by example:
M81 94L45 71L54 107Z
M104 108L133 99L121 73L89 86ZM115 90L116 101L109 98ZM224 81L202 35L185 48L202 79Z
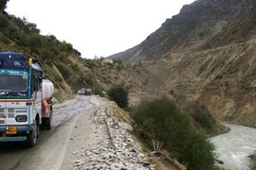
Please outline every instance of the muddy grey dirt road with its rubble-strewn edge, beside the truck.
M54 106L51 130L32 148L0 145L0 169L153 169L125 129L110 115L109 101L77 96Z

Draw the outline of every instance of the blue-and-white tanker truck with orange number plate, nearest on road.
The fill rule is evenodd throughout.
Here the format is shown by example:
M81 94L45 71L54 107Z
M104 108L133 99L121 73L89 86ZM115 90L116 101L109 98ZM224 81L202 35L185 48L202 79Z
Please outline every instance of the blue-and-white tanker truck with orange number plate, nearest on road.
M52 126L53 83L38 59L0 52L0 143L37 143L40 129Z

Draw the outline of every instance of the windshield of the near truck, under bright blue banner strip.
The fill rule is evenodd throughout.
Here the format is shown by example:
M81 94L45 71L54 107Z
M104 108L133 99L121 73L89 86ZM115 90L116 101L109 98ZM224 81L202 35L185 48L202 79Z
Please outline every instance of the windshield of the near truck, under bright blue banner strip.
M27 72L0 70L0 93L27 92Z

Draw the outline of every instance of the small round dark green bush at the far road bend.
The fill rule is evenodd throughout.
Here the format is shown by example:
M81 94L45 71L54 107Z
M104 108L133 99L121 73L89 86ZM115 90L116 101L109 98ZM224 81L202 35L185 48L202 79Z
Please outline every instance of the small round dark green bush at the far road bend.
M120 108L128 107L128 91L121 85L112 87L107 95L110 100L115 101Z

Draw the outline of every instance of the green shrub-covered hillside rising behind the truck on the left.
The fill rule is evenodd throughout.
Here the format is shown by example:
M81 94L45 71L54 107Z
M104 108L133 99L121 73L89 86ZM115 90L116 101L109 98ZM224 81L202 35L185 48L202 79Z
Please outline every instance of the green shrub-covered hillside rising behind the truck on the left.
M80 51L69 42L59 41L54 35L41 35L37 25L29 23L26 17L9 15L5 11L8 2L9 0L0 2L0 52L27 53L39 59L44 75L54 83L58 100L66 99L63 97L83 87L103 95L96 78L90 71L84 72L83 66L87 67L88 61L81 58Z

